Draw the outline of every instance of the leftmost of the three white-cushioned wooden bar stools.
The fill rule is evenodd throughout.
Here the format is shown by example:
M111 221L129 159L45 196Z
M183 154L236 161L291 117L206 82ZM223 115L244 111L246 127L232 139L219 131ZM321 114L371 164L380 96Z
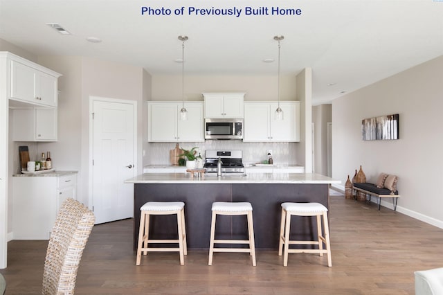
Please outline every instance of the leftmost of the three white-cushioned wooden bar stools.
M136 265L140 265L141 252L170 252L180 253L180 265L184 265L184 255L188 254L186 246L186 226L185 226L185 203L183 202L147 202L141 206L140 229L138 231L138 247ZM177 215L177 240L150 240L150 215ZM179 247L154 248L149 244L179 244Z

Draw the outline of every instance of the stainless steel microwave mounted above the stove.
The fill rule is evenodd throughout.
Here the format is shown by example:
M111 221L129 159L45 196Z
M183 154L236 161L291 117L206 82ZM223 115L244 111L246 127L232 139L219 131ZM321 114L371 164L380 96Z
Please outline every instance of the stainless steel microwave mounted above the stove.
M243 119L206 119L205 139L243 139Z

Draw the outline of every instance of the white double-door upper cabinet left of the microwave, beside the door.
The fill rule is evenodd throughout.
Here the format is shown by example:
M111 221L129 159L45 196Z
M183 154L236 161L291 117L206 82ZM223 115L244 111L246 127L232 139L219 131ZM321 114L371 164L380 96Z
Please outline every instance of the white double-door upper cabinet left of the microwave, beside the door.
M180 120L182 102L148 102L148 141L204 141L203 102L185 102L188 120Z

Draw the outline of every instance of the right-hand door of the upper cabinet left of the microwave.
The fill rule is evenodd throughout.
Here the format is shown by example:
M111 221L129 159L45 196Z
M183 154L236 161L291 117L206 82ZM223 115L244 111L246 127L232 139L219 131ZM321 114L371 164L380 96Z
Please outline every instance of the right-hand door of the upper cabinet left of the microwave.
M178 123L178 136L177 141L181 142L197 142L205 141L204 138L204 120L203 120L203 102L201 103L188 103L185 104L188 110L188 120L179 119L179 109L177 107L177 123Z

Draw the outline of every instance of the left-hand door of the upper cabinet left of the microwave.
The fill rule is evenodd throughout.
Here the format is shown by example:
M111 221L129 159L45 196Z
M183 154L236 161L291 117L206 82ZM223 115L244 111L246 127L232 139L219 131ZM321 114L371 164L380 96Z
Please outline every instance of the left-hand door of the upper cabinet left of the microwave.
M148 141L177 141L177 103L148 102Z

